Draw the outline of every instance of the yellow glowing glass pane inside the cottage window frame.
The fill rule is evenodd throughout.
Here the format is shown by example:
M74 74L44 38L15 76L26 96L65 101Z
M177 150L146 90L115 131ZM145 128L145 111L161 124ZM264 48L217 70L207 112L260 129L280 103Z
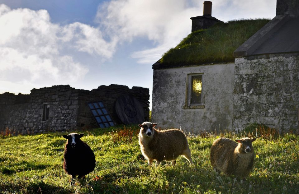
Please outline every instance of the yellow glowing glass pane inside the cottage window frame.
M190 104L200 104L202 102L202 76L192 76L191 84Z

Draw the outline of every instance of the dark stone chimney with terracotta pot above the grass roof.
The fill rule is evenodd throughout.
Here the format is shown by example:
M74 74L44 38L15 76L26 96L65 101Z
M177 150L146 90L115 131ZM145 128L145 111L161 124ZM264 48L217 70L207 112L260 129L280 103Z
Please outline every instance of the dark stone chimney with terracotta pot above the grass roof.
M211 1L205 1L203 2L203 16L197 16L197 17L191 17L192 20L192 30L202 30L202 29L207 29L208 27L218 23L222 22L216 17L212 17L212 2Z

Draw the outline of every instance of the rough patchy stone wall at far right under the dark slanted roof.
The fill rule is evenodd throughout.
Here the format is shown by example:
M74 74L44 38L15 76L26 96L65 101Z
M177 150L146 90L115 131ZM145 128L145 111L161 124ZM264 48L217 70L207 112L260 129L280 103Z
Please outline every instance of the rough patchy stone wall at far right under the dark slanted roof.
M265 124L296 130L299 107L299 56L236 58L233 127Z

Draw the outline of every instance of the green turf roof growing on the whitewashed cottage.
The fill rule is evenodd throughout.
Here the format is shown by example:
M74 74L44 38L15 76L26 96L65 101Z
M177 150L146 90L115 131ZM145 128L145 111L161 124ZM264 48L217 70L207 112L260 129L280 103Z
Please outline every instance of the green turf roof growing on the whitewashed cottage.
M234 51L270 20L234 20L197 30L164 53L160 63L234 62Z

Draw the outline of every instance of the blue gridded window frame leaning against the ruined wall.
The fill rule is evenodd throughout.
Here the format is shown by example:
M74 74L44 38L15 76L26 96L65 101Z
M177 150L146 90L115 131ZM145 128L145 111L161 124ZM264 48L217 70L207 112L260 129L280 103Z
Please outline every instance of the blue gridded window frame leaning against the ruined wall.
M88 106L93 113L93 116L99 127L105 128L114 126L112 118L108 114L108 111L102 102L91 102L88 103Z

